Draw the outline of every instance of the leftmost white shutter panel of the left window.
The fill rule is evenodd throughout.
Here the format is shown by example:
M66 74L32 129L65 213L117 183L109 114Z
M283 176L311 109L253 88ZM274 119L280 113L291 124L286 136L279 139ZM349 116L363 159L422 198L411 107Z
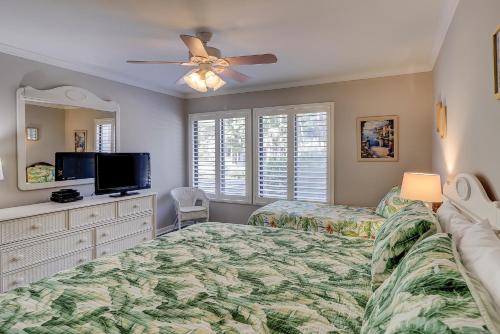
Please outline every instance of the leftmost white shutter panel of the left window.
M215 120L193 122L193 187L215 195Z

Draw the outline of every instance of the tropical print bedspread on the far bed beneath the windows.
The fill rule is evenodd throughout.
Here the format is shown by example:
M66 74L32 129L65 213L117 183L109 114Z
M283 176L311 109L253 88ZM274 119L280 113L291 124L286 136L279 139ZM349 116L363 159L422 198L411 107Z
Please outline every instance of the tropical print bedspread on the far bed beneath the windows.
M375 239L384 221L373 208L276 201L256 210L248 224Z

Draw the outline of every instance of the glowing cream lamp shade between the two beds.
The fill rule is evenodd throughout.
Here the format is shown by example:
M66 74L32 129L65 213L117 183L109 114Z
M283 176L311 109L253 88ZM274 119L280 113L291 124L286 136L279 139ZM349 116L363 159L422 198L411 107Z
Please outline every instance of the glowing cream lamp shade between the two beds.
M437 174L405 173L400 196L427 203L441 203L441 177Z

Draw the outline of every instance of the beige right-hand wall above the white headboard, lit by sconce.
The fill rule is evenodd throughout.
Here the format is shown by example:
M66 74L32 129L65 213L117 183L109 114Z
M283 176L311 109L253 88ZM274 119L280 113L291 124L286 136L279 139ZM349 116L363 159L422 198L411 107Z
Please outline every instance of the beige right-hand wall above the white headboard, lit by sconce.
M500 1L461 0L434 68L435 100L448 110L448 136L433 136L442 177L470 172L500 195L500 101L493 95L492 34Z

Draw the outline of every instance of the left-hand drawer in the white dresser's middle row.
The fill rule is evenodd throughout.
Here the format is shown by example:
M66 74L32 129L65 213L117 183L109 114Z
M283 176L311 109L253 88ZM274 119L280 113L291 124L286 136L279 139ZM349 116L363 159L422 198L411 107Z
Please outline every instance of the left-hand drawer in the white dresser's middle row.
M45 240L1 253L2 273L16 270L93 246L92 231Z

